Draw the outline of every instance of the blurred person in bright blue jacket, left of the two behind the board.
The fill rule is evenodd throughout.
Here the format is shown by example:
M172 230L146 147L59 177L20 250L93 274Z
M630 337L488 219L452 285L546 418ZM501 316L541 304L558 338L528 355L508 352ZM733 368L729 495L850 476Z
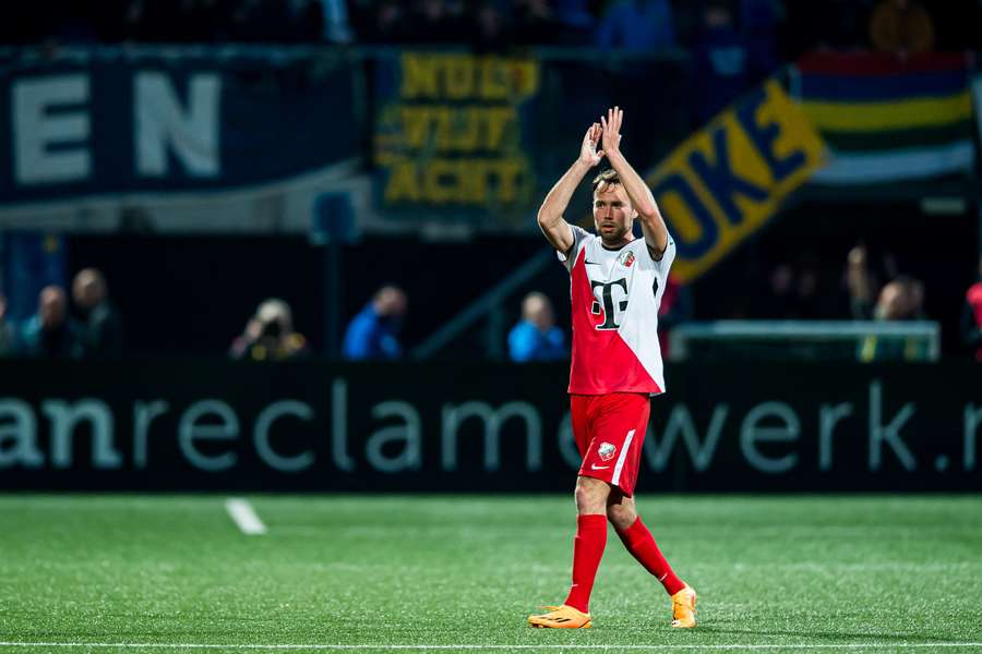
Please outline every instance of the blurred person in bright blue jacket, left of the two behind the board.
M398 335L406 306L403 289L394 286L379 289L348 325L344 358L352 361L399 359L403 346Z

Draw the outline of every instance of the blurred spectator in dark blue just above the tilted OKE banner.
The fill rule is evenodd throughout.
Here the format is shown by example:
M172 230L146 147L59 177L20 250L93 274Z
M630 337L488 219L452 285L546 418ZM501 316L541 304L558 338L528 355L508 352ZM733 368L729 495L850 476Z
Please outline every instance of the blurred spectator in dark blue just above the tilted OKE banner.
M690 100L699 124L743 93L751 83L750 48L736 32L729 7L712 2L703 12L703 34L693 48Z

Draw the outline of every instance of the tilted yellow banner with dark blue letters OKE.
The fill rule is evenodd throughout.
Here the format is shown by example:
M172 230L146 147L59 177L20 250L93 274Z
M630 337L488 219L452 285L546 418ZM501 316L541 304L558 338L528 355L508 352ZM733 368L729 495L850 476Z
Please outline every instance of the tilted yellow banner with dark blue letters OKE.
M690 282L766 225L822 166L822 137L775 80L693 134L647 175Z

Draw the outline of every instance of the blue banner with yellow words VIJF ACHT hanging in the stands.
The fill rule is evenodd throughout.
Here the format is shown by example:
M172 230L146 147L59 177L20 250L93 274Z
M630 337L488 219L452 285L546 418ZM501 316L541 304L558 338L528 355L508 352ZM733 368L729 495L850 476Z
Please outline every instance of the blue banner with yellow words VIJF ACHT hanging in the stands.
M383 60L374 130L388 207L522 207L535 191L523 107L539 63L514 57L403 52Z

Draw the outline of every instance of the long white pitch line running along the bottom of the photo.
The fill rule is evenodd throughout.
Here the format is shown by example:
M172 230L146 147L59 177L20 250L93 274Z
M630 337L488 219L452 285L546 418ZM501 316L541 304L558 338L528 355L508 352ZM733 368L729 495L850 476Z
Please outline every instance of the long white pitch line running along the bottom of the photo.
M608 644L544 644L544 645L398 645L398 644L214 644L214 643L51 643L51 642L0 642L0 647L98 647L98 649L151 649L166 650L915 650L930 647L982 647L982 642L969 643L766 643L766 644L720 644L720 645L608 645Z

